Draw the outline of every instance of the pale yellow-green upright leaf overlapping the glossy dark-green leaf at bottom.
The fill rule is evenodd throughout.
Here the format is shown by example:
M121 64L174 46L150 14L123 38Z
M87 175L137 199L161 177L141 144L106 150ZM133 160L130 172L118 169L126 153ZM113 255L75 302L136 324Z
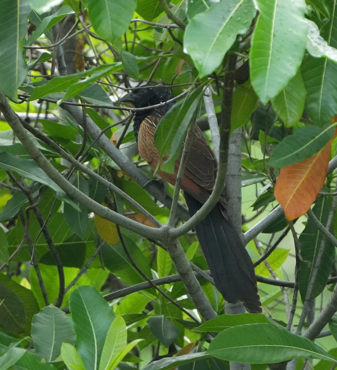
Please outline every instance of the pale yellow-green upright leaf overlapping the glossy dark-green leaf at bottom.
M126 346L127 332L122 316L116 316L110 325L102 350L99 370L109 369L112 359Z

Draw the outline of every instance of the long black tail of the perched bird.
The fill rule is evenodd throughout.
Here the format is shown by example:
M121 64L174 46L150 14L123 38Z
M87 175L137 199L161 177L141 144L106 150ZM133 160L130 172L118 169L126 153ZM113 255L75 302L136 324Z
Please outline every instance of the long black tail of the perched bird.
M186 192L185 200L191 216L202 206ZM240 300L251 313L262 312L252 260L219 205L195 226L195 231L215 286L224 299L230 303Z

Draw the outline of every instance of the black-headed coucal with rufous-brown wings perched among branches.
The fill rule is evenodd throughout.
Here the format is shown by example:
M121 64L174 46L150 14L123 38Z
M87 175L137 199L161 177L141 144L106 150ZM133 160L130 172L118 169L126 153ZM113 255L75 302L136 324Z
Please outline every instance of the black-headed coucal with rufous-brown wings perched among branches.
M135 108L149 107L136 111L133 129L139 154L154 171L160 159L154 144L154 131L160 119L174 105L175 101L166 103L173 98L166 87L144 86L134 89L120 100L130 102ZM162 102L166 104L151 108ZM167 156L164 156L162 160L166 159ZM163 172L159 167L157 175L175 185L180 159L176 161L173 174ZM217 160L204 134L197 127L181 185L191 216L210 196L216 176ZM234 225L228 220L225 194L205 219L195 226L195 231L215 286L224 299L230 303L240 300L251 313L262 312L252 260Z

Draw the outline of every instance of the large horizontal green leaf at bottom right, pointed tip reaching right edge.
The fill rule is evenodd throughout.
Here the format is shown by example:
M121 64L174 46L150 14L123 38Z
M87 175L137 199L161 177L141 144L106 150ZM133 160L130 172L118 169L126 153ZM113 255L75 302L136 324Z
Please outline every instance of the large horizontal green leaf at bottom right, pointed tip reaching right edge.
M292 359L322 359L337 362L311 340L274 324L247 324L219 333L206 352L218 359L265 364Z

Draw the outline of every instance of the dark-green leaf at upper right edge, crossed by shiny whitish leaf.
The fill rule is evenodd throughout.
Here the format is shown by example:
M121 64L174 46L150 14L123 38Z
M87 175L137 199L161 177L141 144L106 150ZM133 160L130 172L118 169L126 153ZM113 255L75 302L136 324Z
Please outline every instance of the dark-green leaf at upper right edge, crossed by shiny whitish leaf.
M331 18L321 30L321 36L331 47L337 48L337 4L329 2ZM311 55L303 61L302 75L307 89L305 110L321 127L337 113L337 64L327 58Z

